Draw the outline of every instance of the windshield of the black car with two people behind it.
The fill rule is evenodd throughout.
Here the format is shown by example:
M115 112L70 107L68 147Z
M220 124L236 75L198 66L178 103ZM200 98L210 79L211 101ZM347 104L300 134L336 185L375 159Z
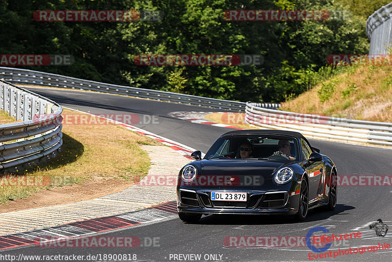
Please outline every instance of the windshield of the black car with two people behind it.
M231 135L219 138L206 159L299 160L298 143L284 135Z

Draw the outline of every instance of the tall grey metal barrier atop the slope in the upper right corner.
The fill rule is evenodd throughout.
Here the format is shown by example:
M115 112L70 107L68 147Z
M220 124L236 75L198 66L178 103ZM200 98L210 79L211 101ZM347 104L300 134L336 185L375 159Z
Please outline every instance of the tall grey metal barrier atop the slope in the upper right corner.
M392 42L392 2L368 17L366 33L370 39L369 54L387 54Z

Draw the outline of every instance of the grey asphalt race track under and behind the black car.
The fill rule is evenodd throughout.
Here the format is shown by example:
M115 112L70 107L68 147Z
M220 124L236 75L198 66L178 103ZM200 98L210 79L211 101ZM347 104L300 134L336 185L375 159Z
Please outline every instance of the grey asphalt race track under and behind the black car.
M94 114L135 113L140 119L143 118L143 114L156 116L159 124L132 124L204 153L222 133L230 131L227 128L194 124L168 115L173 111L222 110L73 90L41 88L30 90L63 106L90 111ZM310 143L320 148L321 153L333 159L338 168L338 175L390 175L391 173L392 150L390 149L320 140L310 140ZM308 231L314 227L325 227L335 235L358 231L363 233L361 238L335 242L329 249L332 252L338 248L349 249L384 242L392 244L391 232L385 237L378 237L374 230L369 230L368 227L372 221L379 218L386 224L392 225L391 196L391 186L341 186L338 188L338 204L334 211L311 210L306 221L300 223L293 222L290 217L286 216L210 215L203 217L197 224L186 224L174 218L100 234L100 236L138 236L142 240L146 237L147 239L155 237L159 239L159 244L156 246L145 244L143 247L133 248L51 249L27 246L0 252L0 255L136 254L137 261L194 261L189 257L175 257L174 255L200 254L201 258L197 261L309 261L310 250L306 246L229 247L225 245L224 239L229 236L306 236ZM317 261L391 261L391 255L390 249L375 253L368 251L364 254L322 258ZM102 259L100 261L116 260Z

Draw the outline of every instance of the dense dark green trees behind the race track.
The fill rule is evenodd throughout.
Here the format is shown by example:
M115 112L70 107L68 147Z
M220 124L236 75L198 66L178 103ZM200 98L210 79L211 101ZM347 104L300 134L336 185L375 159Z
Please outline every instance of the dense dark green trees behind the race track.
M385 1L373 2L0 0L0 53L72 54L72 66L23 68L76 78L220 99L280 102L335 74L336 69L326 67L329 54L368 52L366 19ZM326 9L350 15L327 21L226 21L223 13L230 9ZM164 18L39 22L33 19L36 10L159 10ZM133 61L138 54L261 54L264 63L138 66Z

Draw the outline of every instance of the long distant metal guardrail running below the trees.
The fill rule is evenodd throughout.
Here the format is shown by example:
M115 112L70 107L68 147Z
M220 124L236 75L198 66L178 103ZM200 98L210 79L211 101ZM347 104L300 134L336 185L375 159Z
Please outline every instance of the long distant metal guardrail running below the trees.
M155 99L159 101L168 101L184 103L189 105L206 106L212 108L221 108L234 111L245 111L245 103L221 100L215 98L205 98L199 96L177 94L172 92L158 91L152 89L143 89L124 85L106 84L96 81L76 79L55 74L49 74L33 70L19 68L0 67L0 79L12 82L14 84L32 84L60 88L72 88L80 90L91 90L109 94L119 94L138 98ZM264 104L268 108L277 109L279 104Z

